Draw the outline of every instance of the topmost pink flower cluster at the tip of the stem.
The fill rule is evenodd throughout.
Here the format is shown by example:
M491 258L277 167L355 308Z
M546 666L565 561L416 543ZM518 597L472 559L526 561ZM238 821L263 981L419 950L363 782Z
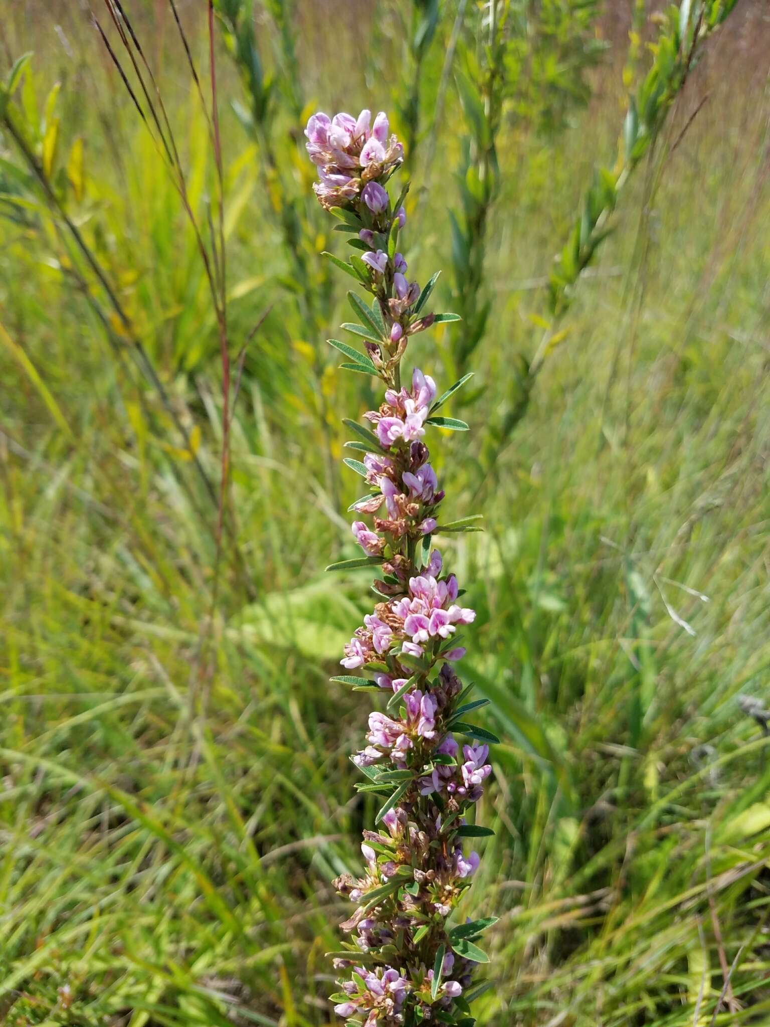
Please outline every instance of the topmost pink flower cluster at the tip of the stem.
M384 111L380 111L374 122L372 112L367 110L357 118L345 113L330 118L319 112L309 119L305 136L307 151L318 167L320 179L313 189L325 207L354 199L368 183L379 185L376 180L387 176L403 160L403 147L390 135Z

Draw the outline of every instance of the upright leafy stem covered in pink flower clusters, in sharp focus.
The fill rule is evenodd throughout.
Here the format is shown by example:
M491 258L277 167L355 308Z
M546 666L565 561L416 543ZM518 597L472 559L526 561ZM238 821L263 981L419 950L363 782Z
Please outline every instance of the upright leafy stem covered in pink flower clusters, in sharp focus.
M362 454L345 463L369 486L350 507L372 518L372 525L352 525L364 555L328 568L381 573L375 609L345 646L347 673L333 680L386 699L384 712L369 716L367 745L351 757L365 778L358 791L378 796L380 809L363 832L363 874L335 882L356 909L341 925L352 940L333 953L341 979L332 1000L349 1025L471 1027L472 972L489 961L476 942L495 918L454 926L450 918L479 863L476 852L464 852L464 840L493 833L468 823L468 814L492 771L489 744L498 739L465 719L487 701L469 701L472 686L463 687L453 667L465 654L458 629L475 613L458 603L457 578L431 546L434 535L479 529L472 517L441 518L445 493L422 441L429 427L467 429L436 414L471 376L441 396L417 368L408 385L402 380L410 338L459 318L426 311L437 274L422 290L407 277L397 246L409 186L395 200L385 188L403 160L385 114L374 123L369 111L357 118L315 114L305 135L319 167L316 195L355 251L347 262L328 256L371 297L350 292L357 319L342 326L362 351L329 341L346 357L344 369L379 378L385 389L379 409L364 414L365 426L344 422L355 435L346 446ZM462 752L456 735L465 739Z

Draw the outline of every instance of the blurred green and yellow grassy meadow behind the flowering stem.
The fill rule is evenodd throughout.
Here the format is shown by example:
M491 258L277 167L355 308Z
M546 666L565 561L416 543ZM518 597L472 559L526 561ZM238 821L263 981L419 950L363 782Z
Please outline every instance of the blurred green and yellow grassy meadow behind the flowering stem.
M220 46L233 355L268 314L246 348L218 559L190 458L218 482L218 342L193 233L84 11L6 6L4 66L36 51L18 103L41 154L59 119L51 175L167 402L1 136L0 1022L320 1027L344 912L329 881L358 866L372 815L347 759L365 703L328 683L368 604L360 576L322 574L331 553L353 555L339 420L372 401L321 348L343 319L343 283L317 256L337 239L308 215L300 245L322 300L309 320ZM299 195L312 167L298 104L390 109L406 88L409 5L359 6L298 4L297 79L258 10L273 145ZM203 65L200 8L180 4ZM130 9L204 223L210 147L174 23L160 2ZM515 354L542 334L541 277L613 151L627 16L613 4L601 23L613 48L563 131L504 121L483 390L458 408L470 438L442 440L437 459L456 516L487 524L449 547L479 611L464 675L503 738L479 810L497 836L467 900L501 915L486 1027L770 1022L770 768L736 703L767 697L770 669L762 3L714 40L669 139L707 102L668 159L640 169L492 466L485 448ZM435 157L408 253L422 280L449 263L459 202L452 88L430 142L451 28L447 7L424 68L418 157ZM414 348L448 386L444 329ZM733 962L732 1010L715 1020Z

